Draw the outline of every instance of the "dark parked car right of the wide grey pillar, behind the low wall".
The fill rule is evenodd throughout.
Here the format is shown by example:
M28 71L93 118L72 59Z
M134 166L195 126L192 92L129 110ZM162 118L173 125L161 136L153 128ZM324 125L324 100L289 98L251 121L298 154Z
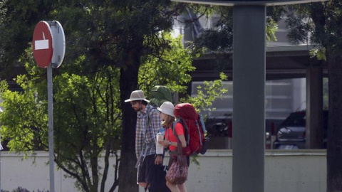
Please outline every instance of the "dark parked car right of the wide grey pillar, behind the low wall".
M323 111L323 148L326 148L328 129L328 111ZM306 112L292 112L279 125L274 142L274 149L305 149L306 143Z

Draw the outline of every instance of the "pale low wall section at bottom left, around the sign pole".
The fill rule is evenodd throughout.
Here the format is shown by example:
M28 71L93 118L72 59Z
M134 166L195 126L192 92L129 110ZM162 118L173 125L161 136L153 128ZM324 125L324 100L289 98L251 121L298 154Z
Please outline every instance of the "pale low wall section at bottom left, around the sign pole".
M23 160L23 155L1 151L1 189L12 191L19 186L29 191L50 190L48 152L38 151L36 159ZM73 181L64 178L64 172L55 170L55 191L74 192Z

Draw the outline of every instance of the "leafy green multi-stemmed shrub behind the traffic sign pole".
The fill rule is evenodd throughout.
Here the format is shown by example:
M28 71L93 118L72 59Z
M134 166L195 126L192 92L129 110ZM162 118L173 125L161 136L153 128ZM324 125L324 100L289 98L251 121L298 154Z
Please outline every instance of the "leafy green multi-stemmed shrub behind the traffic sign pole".
M46 79L33 60L29 61L28 75L16 79L23 92L12 92L1 82L3 137L9 139L11 151L26 153L48 149ZM53 82L55 162L69 177L76 178L79 189L105 191L108 170L113 164L109 162L110 155L116 156L115 172L119 165L118 70L108 66L88 77L62 73ZM109 183L109 191L114 191L118 177Z

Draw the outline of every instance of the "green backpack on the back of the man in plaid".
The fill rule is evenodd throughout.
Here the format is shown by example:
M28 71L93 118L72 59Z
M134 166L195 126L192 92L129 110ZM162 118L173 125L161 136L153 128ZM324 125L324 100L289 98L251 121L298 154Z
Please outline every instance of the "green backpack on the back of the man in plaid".
M150 91L150 105L160 107L163 102L174 103L171 90L163 85L155 85Z

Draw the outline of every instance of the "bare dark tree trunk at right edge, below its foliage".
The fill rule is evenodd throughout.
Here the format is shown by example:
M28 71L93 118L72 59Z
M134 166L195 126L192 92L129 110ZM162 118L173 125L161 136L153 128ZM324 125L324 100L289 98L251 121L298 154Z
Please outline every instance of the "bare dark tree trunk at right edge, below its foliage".
M327 51L329 53L329 51ZM329 119L327 191L342 191L342 56L327 55Z

